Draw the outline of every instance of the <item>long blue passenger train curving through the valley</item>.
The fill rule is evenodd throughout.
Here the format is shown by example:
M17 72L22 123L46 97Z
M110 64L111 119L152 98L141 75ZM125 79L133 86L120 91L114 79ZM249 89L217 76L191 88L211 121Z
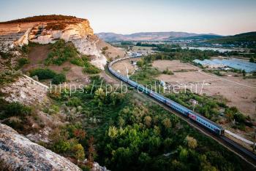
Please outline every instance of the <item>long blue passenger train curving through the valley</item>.
M173 100L170 100L169 98L165 98L164 96L160 95L157 92L154 92L153 90L148 90L146 87L144 87L141 84L138 84L135 81L132 81L131 79L128 79L126 76L122 76L121 73L118 73L117 71L113 70L111 66L113 63L116 63L120 60L126 60L131 57L124 57L119 58L116 60L113 60L108 64L108 70L110 73L112 73L114 76L116 76L118 79L121 79L121 81L126 82L130 86L134 87L140 92L145 93L146 95L149 95L151 98L154 98L155 100L159 101L160 103L164 104L165 106L170 107L174 111L177 111L179 114L182 114L183 116L188 117L189 119L192 119L192 121L196 122L197 124L205 127L210 132L213 132L216 135L224 135L225 130L217 123L212 122L211 120L207 119L204 116L201 116L200 114L197 114L195 111L190 110L189 108L186 108L182 106L179 103L176 103Z

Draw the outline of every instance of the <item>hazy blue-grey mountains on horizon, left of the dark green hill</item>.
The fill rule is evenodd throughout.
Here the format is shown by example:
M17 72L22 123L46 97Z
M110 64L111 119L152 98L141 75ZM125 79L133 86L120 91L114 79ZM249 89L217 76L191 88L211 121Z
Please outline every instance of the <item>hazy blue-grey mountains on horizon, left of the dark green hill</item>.
M163 41L170 38L197 36L196 33L187 32L140 32L132 34L97 33L105 41Z

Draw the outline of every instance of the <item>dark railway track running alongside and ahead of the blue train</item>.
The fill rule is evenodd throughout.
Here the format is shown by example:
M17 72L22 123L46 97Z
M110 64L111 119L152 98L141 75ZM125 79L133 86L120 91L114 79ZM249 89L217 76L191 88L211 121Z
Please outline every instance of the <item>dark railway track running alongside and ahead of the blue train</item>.
M125 59L129 59L129 58L126 57L123 60L125 60ZM120 61L120 60L118 60L118 61ZM111 73L109 71L109 68L108 68L108 73L110 73L116 79L121 80L121 79L117 78L113 73ZM127 84L126 82L124 82L124 83ZM127 85L129 87L131 87L129 84L127 84ZM221 135L221 136L214 135L214 133L209 132L205 127L201 127L199 124L192 121L192 119L189 119L188 117L185 117L185 116L179 114L177 111L174 111L169 106L162 104L162 102L159 102L158 100L151 98L150 96L145 95L145 94L140 94L140 95L143 95L144 98L147 98L148 100L151 100L154 103L157 103L159 106L162 106L163 108L165 108L165 110L170 111L170 113L175 114L176 116L178 116L179 118L184 120L184 122L187 122L187 124L189 124L191 127L194 127L198 131L202 132L204 135L216 140L217 143L221 144L222 146L225 146L225 148L227 148L228 150L233 151L234 154L236 154L237 156L239 156L241 159L243 159L245 162L247 162L249 164L249 166L248 166L249 170L256 169L256 155L254 153L252 153L252 151L249 151L246 148L239 145L238 143L234 142L233 140L230 140L230 138L225 137L225 135Z

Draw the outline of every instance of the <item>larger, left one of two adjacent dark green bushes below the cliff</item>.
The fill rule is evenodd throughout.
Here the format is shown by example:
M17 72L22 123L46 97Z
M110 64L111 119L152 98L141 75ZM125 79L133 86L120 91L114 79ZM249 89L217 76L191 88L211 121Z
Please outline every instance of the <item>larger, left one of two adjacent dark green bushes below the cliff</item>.
M53 79L56 73L50 69L36 68L30 71L30 76L38 76L39 80Z

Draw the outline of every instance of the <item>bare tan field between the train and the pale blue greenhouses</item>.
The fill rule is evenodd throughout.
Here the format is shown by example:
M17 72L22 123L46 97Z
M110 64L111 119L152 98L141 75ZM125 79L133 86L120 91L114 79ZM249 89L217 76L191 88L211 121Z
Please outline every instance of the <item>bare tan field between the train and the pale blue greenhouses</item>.
M178 60L156 60L153 66L159 68L160 71L168 68L170 71L197 70L187 72L174 72L174 75L161 74L157 79L168 82L170 84L178 84L180 86L192 85L192 91L195 92L195 84L197 84L197 93L201 92L206 95L222 95L227 99L228 106L236 106L246 116L256 119L256 80L243 79L241 76L215 76L211 73L200 71L194 65L181 63ZM231 75L231 74L230 74Z

